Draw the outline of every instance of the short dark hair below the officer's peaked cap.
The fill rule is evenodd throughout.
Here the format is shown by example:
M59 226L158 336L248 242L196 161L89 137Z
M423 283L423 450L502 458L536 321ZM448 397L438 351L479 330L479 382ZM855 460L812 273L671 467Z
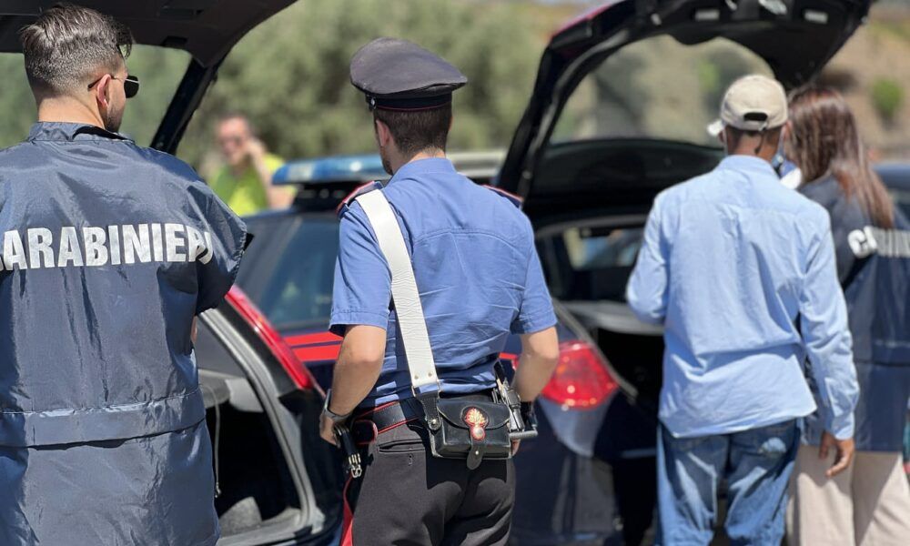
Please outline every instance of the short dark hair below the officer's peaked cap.
M373 119L389 127L402 154L417 154L429 148L446 150L452 122L451 104L429 110L373 110Z

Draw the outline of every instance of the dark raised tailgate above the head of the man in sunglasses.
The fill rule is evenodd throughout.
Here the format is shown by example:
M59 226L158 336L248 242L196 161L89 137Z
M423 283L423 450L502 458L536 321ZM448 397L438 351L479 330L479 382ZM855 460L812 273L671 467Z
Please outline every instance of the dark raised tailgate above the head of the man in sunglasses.
M203 66L221 61L251 28L295 0L80 0L128 25L136 44L183 49ZM18 31L58 0L0 2L0 52L19 52Z

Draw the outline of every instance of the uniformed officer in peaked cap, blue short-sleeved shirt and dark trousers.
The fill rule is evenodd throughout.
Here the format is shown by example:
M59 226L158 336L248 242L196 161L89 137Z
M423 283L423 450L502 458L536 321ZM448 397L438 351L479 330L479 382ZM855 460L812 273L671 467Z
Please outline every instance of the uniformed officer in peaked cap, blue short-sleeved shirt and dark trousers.
M420 292L440 396L467 404L443 417L470 422L481 441L493 424L470 404L490 401L510 334L521 336L514 385L525 404L559 357L531 222L518 199L474 184L445 157L452 91L467 83L457 68L418 45L379 38L353 57L350 77L367 98L393 175L385 187L355 193L382 192L389 201ZM347 424L365 461L345 490L342 543L504 545L512 461L484 459L469 470L465 459L432 456L433 421L412 394L389 264L359 201L349 197L339 216L331 329L344 340L321 434L333 441L333 427Z

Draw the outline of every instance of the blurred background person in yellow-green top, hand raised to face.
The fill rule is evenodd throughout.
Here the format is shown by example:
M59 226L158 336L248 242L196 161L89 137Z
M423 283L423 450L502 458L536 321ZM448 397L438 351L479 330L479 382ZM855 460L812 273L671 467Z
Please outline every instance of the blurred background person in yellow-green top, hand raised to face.
M212 178L211 187L228 207L238 216L288 207L293 198L290 189L272 186L272 175L284 160L268 153L246 117L221 118L217 143L226 164Z

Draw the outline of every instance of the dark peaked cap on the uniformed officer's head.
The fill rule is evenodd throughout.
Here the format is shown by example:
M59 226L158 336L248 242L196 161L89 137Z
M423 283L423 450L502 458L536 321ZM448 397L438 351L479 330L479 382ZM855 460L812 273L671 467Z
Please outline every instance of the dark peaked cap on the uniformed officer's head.
M367 96L370 110L408 111L449 104L468 78L420 45L377 38L351 58L350 83Z

